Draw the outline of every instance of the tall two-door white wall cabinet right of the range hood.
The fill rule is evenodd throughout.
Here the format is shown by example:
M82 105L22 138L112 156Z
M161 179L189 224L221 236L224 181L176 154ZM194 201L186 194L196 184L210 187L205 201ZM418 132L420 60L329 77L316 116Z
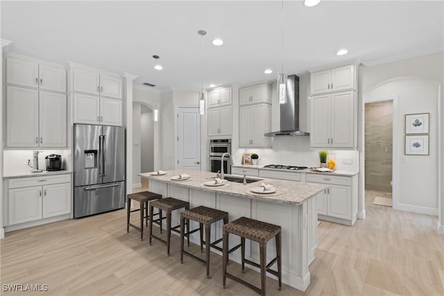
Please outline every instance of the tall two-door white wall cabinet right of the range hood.
M356 142L355 92L311 96L312 148L354 148Z

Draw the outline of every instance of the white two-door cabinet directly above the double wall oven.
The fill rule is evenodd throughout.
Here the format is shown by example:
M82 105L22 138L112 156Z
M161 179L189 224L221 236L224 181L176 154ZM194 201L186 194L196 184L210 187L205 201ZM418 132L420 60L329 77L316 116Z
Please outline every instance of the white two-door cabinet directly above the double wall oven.
M208 136L232 134L231 106L208 109Z

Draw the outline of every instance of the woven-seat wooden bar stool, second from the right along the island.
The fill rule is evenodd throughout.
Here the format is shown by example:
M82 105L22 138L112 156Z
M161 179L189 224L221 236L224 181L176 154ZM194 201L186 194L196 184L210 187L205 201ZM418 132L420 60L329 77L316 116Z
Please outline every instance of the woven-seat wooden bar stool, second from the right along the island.
M228 223L228 213L226 211L219 211L218 209L200 206L188 209L187 211L182 211L180 217L180 263L183 263L183 254L187 254L200 263L207 265L207 279L210 279L210 247L214 247L216 250L222 252L222 248L216 246L217 243L222 241L222 238L214 241L214 243L210 242L211 225L219 220L223 220L223 224ZM184 250L185 224L189 225L189 220L199 223L199 228L187 232L187 235L189 236L189 234L200 230L200 252L203 252L203 245L205 244L205 260ZM205 226L205 241L203 240L203 226Z

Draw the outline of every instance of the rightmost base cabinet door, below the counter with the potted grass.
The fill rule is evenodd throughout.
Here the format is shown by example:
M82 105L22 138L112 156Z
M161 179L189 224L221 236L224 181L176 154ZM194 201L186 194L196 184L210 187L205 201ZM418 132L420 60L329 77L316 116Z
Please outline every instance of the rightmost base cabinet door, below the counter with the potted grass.
M330 185L327 189L327 215L351 220L352 188L350 186Z

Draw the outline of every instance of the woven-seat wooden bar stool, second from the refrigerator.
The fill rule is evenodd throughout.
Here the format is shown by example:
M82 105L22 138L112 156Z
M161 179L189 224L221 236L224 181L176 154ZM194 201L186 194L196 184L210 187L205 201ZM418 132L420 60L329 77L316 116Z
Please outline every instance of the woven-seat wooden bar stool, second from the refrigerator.
M151 223L151 219L153 215L153 209L154 208L159 209L159 212L166 211L167 212L167 241L164 241L162 238L155 236L153 234L153 223ZM176 209L182 209L185 210L189 209L189 202L185 202L183 200L178 200L176 198L162 198L161 200L153 200L150 202L150 228L149 228L149 234L150 234L150 245L151 245L151 238L157 239L157 241L161 241L165 245L167 245L167 254L169 256L169 245L171 240L171 231L178 232L180 231L177 229L180 227L180 225L171 227L171 211L174 211ZM189 232L189 223L187 223L187 232ZM162 233L162 227L160 227L160 233ZM188 245L189 245L189 234L187 235L188 238Z

